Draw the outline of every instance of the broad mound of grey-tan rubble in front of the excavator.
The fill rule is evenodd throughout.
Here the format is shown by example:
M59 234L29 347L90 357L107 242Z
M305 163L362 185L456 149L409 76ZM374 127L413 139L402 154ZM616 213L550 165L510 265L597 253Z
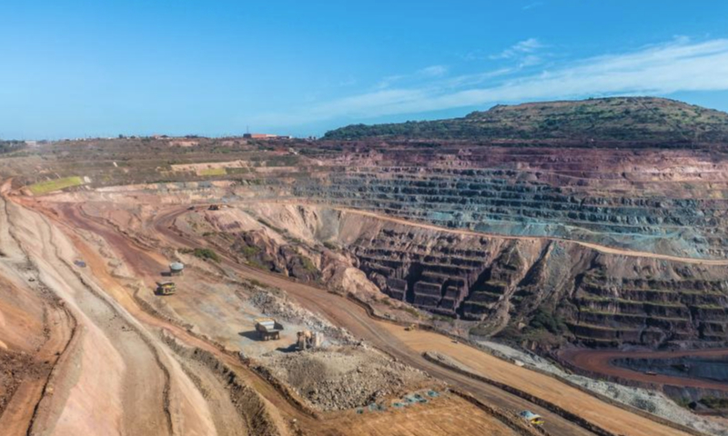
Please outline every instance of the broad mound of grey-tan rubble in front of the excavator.
M271 353L260 361L322 411L366 406L429 382L424 372L360 346Z

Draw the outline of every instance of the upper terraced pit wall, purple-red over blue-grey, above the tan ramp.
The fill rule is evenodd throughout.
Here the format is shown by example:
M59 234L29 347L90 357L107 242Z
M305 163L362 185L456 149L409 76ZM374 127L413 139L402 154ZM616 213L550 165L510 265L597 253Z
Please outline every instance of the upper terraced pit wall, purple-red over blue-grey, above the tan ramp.
M728 160L722 152L399 147L348 154L340 162L346 168L298 181L292 193L308 202L483 233L688 257L728 255Z

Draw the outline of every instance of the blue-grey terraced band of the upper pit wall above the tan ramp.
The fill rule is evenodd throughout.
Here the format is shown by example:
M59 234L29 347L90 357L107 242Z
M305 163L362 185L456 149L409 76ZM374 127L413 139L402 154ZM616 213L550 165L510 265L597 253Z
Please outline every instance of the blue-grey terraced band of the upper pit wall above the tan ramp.
M301 181L294 196L307 201L387 213L443 227L484 233L551 236L615 247L721 258L728 251L723 200L640 197L542 183L514 170L352 169L327 181ZM720 198L720 197L718 197Z

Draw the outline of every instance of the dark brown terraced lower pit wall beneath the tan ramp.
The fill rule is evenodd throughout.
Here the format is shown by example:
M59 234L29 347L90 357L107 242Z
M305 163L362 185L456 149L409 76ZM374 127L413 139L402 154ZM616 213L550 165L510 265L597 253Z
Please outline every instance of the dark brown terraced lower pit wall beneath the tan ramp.
M253 207L276 223L276 207ZM550 238L486 236L367 213L288 207L389 297L472 322L476 334L592 346L728 342L728 267ZM303 218L303 217L306 218ZM603 248L603 247L602 247Z

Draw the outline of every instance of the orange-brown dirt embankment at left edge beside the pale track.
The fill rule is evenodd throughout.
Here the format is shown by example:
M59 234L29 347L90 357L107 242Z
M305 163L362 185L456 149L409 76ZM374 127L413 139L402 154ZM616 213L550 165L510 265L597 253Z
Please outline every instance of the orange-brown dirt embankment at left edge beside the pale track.
M75 317L41 280L10 211L0 198L0 428L25 435L78 335Z

